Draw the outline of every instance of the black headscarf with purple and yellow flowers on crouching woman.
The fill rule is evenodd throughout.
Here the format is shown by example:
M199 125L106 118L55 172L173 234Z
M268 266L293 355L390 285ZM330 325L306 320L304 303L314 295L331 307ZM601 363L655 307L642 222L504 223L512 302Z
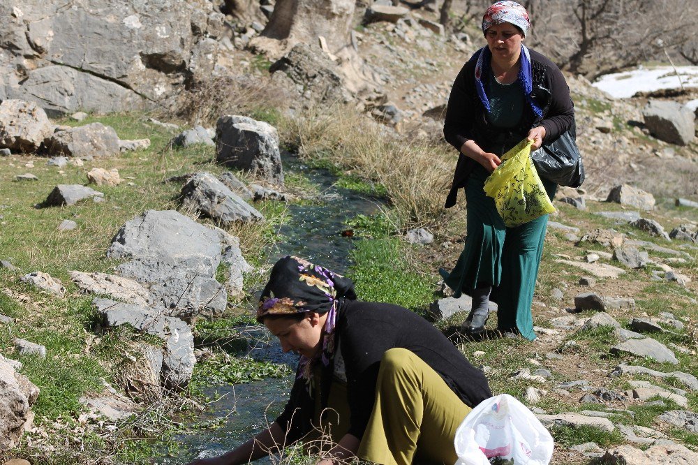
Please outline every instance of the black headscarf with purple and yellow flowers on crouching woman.
M257 320L269 315L294 315L315 311L327 313L322 338L322 353L313 359L302 356L298 362L298 378L304 378L311 388L313 366L319 359L327 367L334 357L334 326L337 310L343 299L356 299L351 279L297 257L281 258L269 276L260 297Z

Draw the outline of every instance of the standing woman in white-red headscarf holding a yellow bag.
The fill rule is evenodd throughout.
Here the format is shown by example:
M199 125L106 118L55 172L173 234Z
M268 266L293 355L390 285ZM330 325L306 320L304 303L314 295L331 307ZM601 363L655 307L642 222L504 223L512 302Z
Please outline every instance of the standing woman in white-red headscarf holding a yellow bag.
M463 323L466 332L484 331L489 300L497 302L498 330L535 339L530 306L543 251L547 215L507 228L494 199L482 190L501 156L524 138L556 140L574 127L574 108L565 77L549 59L523 45L528 13L515 1L497 1L482 18L487 46L461 68L451 89L443 132L459 150L446 208L466 192L466 244L454 269L439 270L454 297L473 297ZM550 198L556 184L542 179Z

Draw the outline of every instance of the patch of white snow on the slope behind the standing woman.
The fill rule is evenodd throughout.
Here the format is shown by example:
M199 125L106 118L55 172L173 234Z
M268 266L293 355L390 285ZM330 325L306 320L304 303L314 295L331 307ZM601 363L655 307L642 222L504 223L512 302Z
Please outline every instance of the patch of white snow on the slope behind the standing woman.
M677 66L676 71L681 76L683 87L698 87L698 66ZM681 82L671 66L641 66L632 71L603 75L592 85L614 98L628 98L636 92L681 89Z

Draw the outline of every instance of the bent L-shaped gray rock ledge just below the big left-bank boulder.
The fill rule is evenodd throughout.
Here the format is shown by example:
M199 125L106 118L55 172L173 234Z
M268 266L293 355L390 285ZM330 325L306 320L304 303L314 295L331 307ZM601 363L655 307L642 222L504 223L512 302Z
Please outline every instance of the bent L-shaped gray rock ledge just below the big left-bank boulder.
M114 300L95 299L93 304L103 314L105 325L114 327L128 324L135 330L147 332L165 341L163 385L182 388L188 383L196 359L191 327L184 321L165 316L162 311Z

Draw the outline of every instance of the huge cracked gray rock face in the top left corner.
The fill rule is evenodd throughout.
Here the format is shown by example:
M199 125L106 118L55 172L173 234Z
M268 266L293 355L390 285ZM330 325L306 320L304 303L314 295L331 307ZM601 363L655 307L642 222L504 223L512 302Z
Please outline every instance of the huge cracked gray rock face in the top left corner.
M13 57L0 99L36 101L54 115L166 103L211 75L223 31L206 1L3 1L0 37Z

